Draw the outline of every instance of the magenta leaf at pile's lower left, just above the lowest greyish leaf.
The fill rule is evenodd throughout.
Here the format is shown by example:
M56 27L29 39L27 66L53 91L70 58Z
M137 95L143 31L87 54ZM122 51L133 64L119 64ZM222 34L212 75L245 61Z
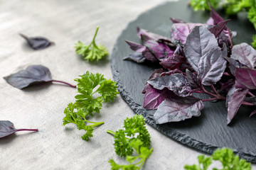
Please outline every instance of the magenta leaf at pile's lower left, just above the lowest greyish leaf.
M156 109L166 98L174 96L169 89L157 90L147 84L145 88L143 107L146 109Z

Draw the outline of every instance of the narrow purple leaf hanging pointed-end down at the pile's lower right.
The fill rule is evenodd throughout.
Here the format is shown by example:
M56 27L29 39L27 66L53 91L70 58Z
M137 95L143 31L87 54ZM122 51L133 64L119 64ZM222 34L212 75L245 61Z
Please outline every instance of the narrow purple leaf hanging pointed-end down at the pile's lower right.
M226 99L226 106L228 107L227 124L235 117L248 91L249 89L236 89L235 85L228 91Z

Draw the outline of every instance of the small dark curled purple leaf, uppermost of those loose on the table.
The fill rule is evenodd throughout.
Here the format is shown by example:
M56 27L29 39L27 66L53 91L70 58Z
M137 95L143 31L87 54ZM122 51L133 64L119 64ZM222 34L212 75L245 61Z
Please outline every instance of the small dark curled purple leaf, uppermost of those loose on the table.
M26 35L20 34L21 37L25 38L33 50L43 50L50 45L53 45L54 42L50 42L47 38L43 37L35 37L35 38L28 38Z

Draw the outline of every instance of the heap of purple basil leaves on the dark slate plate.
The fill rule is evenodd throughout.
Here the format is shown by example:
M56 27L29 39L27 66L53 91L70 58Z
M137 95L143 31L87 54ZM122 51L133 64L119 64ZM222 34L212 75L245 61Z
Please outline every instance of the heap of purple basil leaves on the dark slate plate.
M157 109L156 123L200 116L204 101L225 100L227 124L241 105L256 106L256 50L246 43L233 45L229 20L211 8L206 24L171 21L171 38L138 28L142 45L127 41L134 53L124 58L163 67L151 74L142 91L144 108ZM208 98L196 98L195 93Z

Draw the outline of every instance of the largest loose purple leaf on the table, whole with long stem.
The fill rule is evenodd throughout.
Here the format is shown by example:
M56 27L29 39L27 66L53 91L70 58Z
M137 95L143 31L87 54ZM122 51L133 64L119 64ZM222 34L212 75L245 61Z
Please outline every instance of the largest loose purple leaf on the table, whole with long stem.
M68 86L71 86L73 88L76 87L64 81L53 80L50 74L50 70L47 67L44 67L43 65L28 66L26 69L11 74L7 77L4 77L4 79L7 81L7 83L11 84L11 86L14 86L18 89L23 89L33 84L40 84L53 81L67 84Z

